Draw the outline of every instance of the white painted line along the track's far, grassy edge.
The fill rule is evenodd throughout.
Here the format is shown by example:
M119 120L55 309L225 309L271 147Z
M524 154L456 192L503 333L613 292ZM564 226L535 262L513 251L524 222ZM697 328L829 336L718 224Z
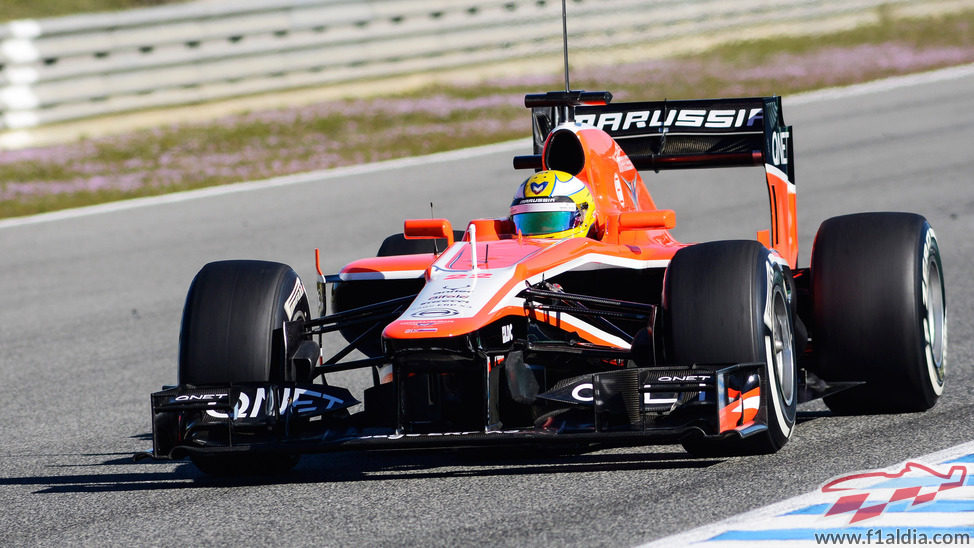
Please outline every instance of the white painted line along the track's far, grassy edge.
M974 76L974 64L961 65L957 67L949 67L949 68L935 70L931 72L909 74L905 76L894 76L892 78L876 80L873 82L866 82L864 84L855 84L855 85L845 86L845 87L822 89L818 91L812 91L808 93L802 93L802 94L786 97L784 99L784 102L786 105L804 105L809 103L818 103L822 101L832 101L832 100L842 99L846 97L857 97L857 96L867 95L872 93L882 93L885 91L891 91L895 89L912 87L912 86L919 86L919 85L930 84L935 82L958 80L970 76ZM504 143L497 143L493 145L453 150L449 152L440 152L436 154L429 154L426 156L415 156L411 158L400 158L397 160L387 160L384 162L376 162L372 164L339 167L339 168L325 169L321 171L310 171L307 173L285 175L282 177L274 177L272 179L264 179L260 181L248 181L243 183L220 185L214 187L207 187L199 190L175 192L172 194L165 194L162 196L149 196L146 198L121 200L117 202L110 202L107 204L100 204L100 205L94 205L88 207L65 209L61 211L54 211L51 213L41 213L38 215L15 217L12 219L0 220L0 229L39 224L39 223L47 223L53 221L61 221L64 219L75 219L78 217L87 217L91 215L101 215L103 213L126 211L129 209L149 207L149 206L160 205L160 204L185 202L188 200L208 198L211 196L223 196L225 194L234 194L237 192L250 192L253 190L263 190L265 188L274 188L279 186L318 182L318 181L323 181L328 179L334 179L336 177L344 177L346 175L376 173L380 171L390 171L390 170L399 169L403 167L421 166L421 165L429 165L429 164L440 163L440 162L448 162L453 160L478 158L478 157L487 156L499 152L514 152L519 150L525 152L530 150L530 141L525 139L518 139L516 141L507 141Z

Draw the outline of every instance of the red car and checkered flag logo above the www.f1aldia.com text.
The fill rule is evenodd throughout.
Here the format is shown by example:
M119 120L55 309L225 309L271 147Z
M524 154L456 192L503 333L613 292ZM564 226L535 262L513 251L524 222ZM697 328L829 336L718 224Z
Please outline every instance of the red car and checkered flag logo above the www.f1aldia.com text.
M907 508L913 508L932 502L938 494L962 487L966 480L964 465L938 470L917 462L907 462L898 472L840 476L822 486L823 493L839 496L825 516L850 514L849 523L857 523L879 516L893 503L905 502Z

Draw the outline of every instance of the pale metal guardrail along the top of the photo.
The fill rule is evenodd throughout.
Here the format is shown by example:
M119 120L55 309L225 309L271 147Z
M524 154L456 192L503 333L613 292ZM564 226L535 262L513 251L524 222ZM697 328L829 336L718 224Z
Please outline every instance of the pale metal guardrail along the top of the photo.
M573 49L909 0L569 0ZM238 0L0 25L0 130L560 51L559 0Z

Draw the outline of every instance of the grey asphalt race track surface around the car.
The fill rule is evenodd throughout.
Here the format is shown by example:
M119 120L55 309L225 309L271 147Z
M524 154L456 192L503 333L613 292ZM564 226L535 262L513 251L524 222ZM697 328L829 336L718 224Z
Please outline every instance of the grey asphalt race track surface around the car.
M183 299L204 263L278 260L311 289L315 247L334 271L373 254L404 217L428 217L431 201L459 226L504 215L527 176L511 156L527 145L501 146L0 225L0 545L627 546L971 440L974 76L889 87L786 99L801 263L833 215L904 210L931 221L950 325L947 388L931 411L834 417L808 405L780 453L726 460L667 446L568 457L353 452L236 481L188 462L133 461L151 446L149 393L175 381ZM768 225L760 170L644 178L657 205L677 211L684 241L753 238Z

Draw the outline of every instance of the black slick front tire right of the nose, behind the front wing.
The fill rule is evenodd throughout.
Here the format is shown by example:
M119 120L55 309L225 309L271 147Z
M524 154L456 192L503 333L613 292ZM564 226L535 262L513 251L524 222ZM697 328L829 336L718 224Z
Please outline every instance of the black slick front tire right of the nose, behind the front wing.
M763 245L746 240L693 245L670 262L663 306L676 364L764 364L760 402L767 430L746 438L687 438L689 453L774 453L791 437L798 393L787 276Z

